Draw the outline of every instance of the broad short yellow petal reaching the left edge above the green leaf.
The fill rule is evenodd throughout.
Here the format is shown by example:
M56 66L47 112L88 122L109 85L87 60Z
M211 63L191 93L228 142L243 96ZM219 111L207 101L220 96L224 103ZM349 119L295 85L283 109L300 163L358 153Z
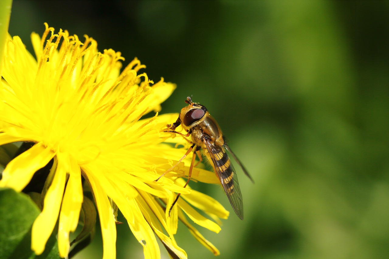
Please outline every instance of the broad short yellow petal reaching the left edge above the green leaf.
M54 152L42 143L23 152L5 167L0 187L10 187L16 191L23 190L38 169L44 167L54 157Z

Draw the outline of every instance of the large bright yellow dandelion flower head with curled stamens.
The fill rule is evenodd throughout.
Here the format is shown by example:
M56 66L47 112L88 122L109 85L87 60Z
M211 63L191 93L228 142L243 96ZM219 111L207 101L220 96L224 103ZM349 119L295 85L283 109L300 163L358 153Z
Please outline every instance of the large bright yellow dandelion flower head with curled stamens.
M8 39L5 46L0 145L20 141L35 145L8 163L0 186L22 191L34 173L53 160L42 191L42 212L32 227L32 250L44 251L58 221L60 256L68 255L69 233L78 225L86 200L83 187L89 186L100 217L104 258L116 257L116 206L143 246L145 258L160 257L156 236L170 254L186 258L174 240L178 219L219 254L185 214L219 232L218 224L193 207L216 222L228 217L228 212L209 196L182 188L185 181L180 177L187 175L188 161L154 181L185 153L167 144L182 140L162 131L177 114L140 118L158 112L175 85L163 79L153 84L139 73L145 66L137 59L120 73L121 53L112 49L100 53L96 41L85 38L81 42L67 31L54 33L46 24L42 37L32 34L36 59L19 37ZM201 169L193 170L192 177L218 183L214 173ZM182 193L182 199L169 217L165 205L170 208L176 193Z

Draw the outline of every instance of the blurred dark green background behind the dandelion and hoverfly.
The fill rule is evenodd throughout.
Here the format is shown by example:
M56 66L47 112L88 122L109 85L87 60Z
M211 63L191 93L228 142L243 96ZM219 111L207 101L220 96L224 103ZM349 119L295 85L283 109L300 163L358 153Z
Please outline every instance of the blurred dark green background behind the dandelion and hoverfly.
M44 22L176 83L163 113L192 96L216 117L255 180L239 175L244 221L193 184L231 211L219 234L198 227L218 258L389 258L388 1L14 0L30 50ZM99 231L76 258L102 256ZM117 232L117 258L142 258ZM176 240L214 257L183 225Z

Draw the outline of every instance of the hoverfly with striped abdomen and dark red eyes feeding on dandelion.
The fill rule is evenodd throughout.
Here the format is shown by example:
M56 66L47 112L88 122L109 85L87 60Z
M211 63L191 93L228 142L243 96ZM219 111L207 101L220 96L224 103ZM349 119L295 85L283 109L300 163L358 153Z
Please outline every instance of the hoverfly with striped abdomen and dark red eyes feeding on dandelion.
M235 173L235 169L228 158L226 150L230 152L232 157L237 161L238 165L242 168L243 172L247 177L254 182L247 172L246 168L240 162L240 160L235 156L235 154L231 151L230 147L226 144L226 140L223 137L223 133L221 132L219 125L215 121L215 119L209 114L207 108L199 103L194 103L190 97L187 97L185 103L189 104L188 106L182 108L179 117L176 122L173 124L168 124L167 130L165 132L172 132L183 136L188 142L192 145L187 150L186 154L180 158L178 163L169 170L167 170L163 175L161 175L156 181L158 181L162 176L166 173L173 170L175 166L177 166L182 159L186 158L186 156L193 151L193 158L191 162L191 166L189 168L188 180L184 185L184 188L189 183L191 178L193 166L196 159L196 154L200 161L202 161L202 156L200 154L200 150L203 151L210 164L212 165L217 177L223 186L224 191L227 194L228 200L230 200L231 206L235 213L238 215L240 219L243 220L243 202L242 202L242 193L240 193L238 177ZM180 132L175 131L175 129L181 125L187 134L182 134ZM191 136L191 140L188 140L186 137ZM199 162L200 162L199 161ZM177 195L177 198L170 207L170 211L173 208L173 205L177 202L180 193Z

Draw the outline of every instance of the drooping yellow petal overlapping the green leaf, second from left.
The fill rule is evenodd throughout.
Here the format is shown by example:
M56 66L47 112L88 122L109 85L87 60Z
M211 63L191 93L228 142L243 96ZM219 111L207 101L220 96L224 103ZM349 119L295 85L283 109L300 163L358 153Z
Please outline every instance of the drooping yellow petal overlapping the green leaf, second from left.
M57 165L53 165L52 168L52 170L55 170L54 178L46 192L43 210L32 224L31 249L38 255L44 251L46 242L53 232L60 211L66 181L66 169L62 164Z

